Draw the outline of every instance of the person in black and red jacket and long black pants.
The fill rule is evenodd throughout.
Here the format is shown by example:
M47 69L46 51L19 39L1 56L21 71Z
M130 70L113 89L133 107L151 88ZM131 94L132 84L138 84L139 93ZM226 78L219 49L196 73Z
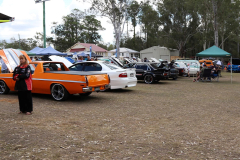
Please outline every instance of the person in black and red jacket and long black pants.
M24 55L20 55L19 60L20 65L13 71L13 80L16 81L14 89L18 91L19 113L30 115L33 111L31 68Z

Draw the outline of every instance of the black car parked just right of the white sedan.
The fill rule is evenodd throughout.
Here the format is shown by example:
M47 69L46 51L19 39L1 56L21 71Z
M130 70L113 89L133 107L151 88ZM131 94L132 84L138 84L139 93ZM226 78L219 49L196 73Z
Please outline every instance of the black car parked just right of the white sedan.
M158 68L156 63L136 62L124 65L124 68L136 68L136 77L138 80L144 80L145 83L151 84L155 81L165 79L168 73L165 69Z

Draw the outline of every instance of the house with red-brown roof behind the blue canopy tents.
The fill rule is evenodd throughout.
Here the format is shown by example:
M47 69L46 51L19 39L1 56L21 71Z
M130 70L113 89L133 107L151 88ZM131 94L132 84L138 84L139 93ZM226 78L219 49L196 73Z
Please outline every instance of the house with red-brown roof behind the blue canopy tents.
M74 44L71 48L68 48L66 53L68 53L68 55L72 55L72 53L75 53L75 52L81 52L81 51L87 51L89 52L90 51L90 46L92 46L92 52L97 54L97 55L100 55L100 56L108 56L107 54L107 50L106 49L103 49L95 44L91 44L91 43L76 43Z

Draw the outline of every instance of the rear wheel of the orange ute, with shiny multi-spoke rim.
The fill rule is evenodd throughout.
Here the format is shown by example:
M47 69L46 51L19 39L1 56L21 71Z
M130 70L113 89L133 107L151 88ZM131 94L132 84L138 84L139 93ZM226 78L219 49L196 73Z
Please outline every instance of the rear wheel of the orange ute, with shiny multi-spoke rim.
M51 95L56 101L66 100L69 96L66 88L61 84L53 84L51 87Z

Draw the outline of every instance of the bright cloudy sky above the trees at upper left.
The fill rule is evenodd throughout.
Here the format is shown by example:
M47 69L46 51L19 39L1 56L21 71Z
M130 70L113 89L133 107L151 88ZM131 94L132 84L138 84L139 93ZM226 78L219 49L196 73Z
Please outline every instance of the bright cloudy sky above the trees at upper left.
M90 8L87 2L77 0L49 0L45 2L46 35L51 34L52 22L62 23L62 17L77 8L85 11ZM36 32L43 32L43 5L34 0L0 0L0 13L15 17L15 21L0 24L0 40L9 41L12 37L33 38ZM104 43L114 44L113 26L107 18L97 17L105 31L99 31Z

